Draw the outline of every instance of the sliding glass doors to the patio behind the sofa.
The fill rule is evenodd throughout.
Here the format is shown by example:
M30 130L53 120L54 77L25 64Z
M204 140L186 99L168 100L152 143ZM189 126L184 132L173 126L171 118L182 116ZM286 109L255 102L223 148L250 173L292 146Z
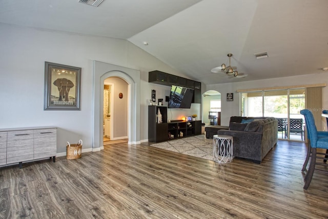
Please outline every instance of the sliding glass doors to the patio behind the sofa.
M241 93L242 116L272 116L278 120L278 138L304 141L305 89Z

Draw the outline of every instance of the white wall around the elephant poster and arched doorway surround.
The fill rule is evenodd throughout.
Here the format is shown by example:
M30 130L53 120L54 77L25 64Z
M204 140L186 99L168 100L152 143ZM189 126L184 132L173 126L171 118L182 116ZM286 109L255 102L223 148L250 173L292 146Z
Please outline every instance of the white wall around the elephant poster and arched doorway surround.
M130 42L107 37L0 24L0 51L0 128L56 126L57 153L66 152L67 141L82 139L84 149L92 147L94 60L140 71L141 141L148 139L151 89L169 93L169 87L148 83L148 72L184 76ZM46 61L82 68L80 111L43 110Z

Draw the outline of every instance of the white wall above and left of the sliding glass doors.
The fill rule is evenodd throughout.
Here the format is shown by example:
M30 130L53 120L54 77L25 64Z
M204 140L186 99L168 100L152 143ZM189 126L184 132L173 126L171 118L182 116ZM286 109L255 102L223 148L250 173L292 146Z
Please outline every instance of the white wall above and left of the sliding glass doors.
M283 86L298 86L312 84L328 84L326 73L306 74L293 77L281 77L272 79L263 79L258 81L238 82L229 84L208 85L203 92L207 90L216 90L221 93L221 125L229 126L230 117L240 115L240 95L237 90L253 88L271 88ZM234 94L233 101L227 101L227 93ZM323 108L328 109L328 88L323 88Z

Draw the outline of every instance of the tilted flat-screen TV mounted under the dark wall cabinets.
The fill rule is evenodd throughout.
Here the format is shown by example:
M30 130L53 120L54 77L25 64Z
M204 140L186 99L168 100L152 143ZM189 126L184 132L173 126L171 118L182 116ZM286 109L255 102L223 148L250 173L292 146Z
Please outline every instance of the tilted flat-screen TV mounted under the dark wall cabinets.
M190 109L193 96L194 89L172 85L168 108Z

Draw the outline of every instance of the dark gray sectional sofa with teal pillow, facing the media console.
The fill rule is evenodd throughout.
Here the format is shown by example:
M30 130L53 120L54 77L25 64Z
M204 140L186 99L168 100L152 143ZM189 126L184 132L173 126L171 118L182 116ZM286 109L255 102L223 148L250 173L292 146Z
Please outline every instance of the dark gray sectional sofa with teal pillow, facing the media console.
M248 122L248 123L244 123ZM233 136L234 157L246 158L260 164L278 142L278 121L274 117L230 118L229 130L218 130L219 135Z

